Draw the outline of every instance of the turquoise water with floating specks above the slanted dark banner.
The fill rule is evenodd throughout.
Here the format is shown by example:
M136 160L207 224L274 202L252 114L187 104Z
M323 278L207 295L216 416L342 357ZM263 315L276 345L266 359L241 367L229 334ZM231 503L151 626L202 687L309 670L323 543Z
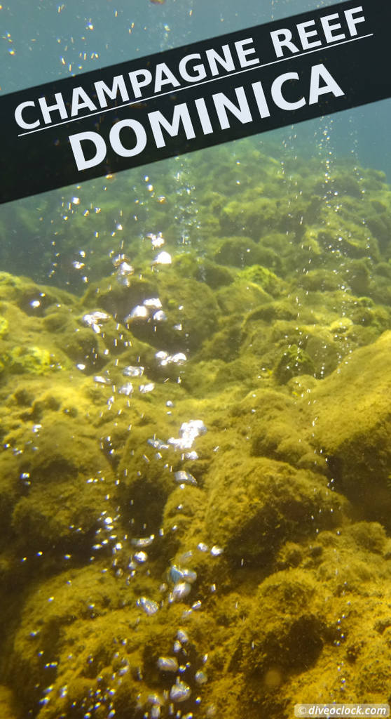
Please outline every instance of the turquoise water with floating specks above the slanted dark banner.
M166 0L163 5L150 0L14 2L1 11L1 35L9 32L12 40L3 45L1 89L11 92L66 77L69 63L71 72L78 74L331 4L298 0L250 0L245 4ZM7 61L10 47L15 55ZM80 52L88 55L82 63ZM96 52L99 58L90 58ZM81 64L83 68L79 68Z

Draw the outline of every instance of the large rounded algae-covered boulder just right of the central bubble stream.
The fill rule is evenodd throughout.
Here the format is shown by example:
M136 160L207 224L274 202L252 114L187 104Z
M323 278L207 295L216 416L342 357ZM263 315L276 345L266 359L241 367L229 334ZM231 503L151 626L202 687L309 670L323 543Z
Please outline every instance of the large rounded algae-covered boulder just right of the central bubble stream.
M249 459L215 468L206 521L232 562L268 564L283 541L334 526L341 498L316 475L272 459Z

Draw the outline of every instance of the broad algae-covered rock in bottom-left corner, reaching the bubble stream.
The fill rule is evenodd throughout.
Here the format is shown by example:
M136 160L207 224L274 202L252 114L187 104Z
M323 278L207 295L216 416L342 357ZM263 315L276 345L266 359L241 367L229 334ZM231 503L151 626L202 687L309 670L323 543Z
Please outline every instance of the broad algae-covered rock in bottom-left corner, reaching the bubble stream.
M164 590L154 592L152 587L145 575L126 585L100 564L65 570L34 588L6 672L11 684L20 687L24 711L40 706L45 719L62 713L81 718L97 692L102 717L114 712L125 718L140 709L146 713L151 695L159 694L165 705L175 672L161 671L158 660L173 654L179 630L185 637L192 624L192 639L179 642L174 657L177 666L178 660L190 657L182 680L195 694L194 677L202 667L199 641L202 633L212 631L211 623L200 615L184 626L183 605L170 604ZM144 610L146 602L153 613ZM47 701L41 701L42 694ZM196 697L190 693L189 710L197 707Z

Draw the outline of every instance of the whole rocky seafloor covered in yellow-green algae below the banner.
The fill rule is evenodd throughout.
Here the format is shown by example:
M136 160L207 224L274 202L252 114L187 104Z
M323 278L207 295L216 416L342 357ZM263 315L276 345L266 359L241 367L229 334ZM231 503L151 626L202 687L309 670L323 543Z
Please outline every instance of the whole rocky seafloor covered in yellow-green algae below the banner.
M2 719L389 700L391 188L275 157L4 208Z

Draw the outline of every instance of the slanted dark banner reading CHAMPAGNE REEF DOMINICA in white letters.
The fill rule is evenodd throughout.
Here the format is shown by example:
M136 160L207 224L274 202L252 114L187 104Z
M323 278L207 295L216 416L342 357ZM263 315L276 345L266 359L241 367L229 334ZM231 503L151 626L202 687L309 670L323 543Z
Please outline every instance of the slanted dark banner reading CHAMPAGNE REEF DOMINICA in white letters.
M0 99L0 202L391 96L391 3L344 2Z

